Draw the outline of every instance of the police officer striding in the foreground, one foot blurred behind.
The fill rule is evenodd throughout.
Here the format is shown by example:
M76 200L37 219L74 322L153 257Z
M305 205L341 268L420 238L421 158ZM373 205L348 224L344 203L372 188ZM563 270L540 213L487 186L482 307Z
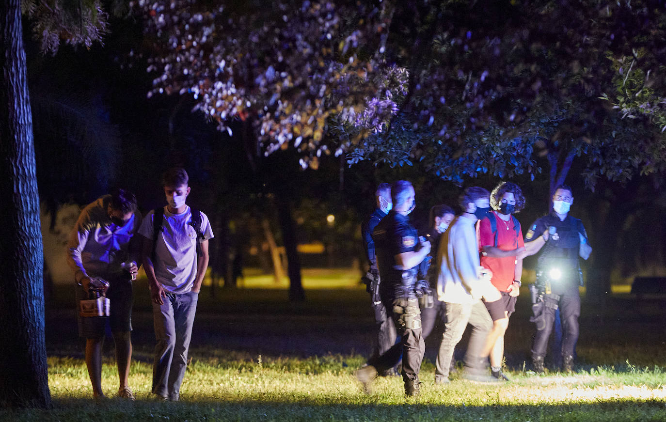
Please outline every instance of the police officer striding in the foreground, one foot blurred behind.
M386 314L394 319L401 341L368 365L356 371L356 377L366 392L378 371L394 367L402 353L402 379L405 394L419 393L418 373L424 354L421 319L416 292L417 267L430 253L430 242L419 239L409 222L409 214L416 207L414 187L410 182L398 180L391 188L393 210L374 230L377 264L382 283L380 297Z

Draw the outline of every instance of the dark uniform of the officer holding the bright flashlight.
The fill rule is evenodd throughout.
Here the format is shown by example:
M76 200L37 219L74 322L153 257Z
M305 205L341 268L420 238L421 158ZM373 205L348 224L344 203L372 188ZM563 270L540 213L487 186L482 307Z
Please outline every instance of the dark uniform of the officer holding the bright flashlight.
M581 244L579 234L587 242L587 233L581 220L568 214L564 220L559 220L555 211L551 210L550 214L537 219L530 226L525 243L539 238L546 230L549 230L548 240L537 256L537 289L544 306L539 308L542 314L532 318L537 322L532 358L543 359L545 356L558 307L563 328L561 353L563 357L572 358L578 340L581 309L578 286L582 286L583 282L578 262ZM553 271L559 272L558 278L552 276Z

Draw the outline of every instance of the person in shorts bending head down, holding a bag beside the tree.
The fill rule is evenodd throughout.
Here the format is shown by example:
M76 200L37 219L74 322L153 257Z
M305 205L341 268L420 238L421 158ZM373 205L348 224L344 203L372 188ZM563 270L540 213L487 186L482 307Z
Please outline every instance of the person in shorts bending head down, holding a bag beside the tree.
M124 189L115 189L86 206L67 243L67 264L74 271L77 299L88 299L91 289L105 290L111 302L108 317L81 317L79 336L85 337L85 361L93 384L93 397L102 391L102 346L105 325L111 325L116 349L120 387L118 395L134 400L128 385L132 359L132 280L137 277L139 243L135 236L141 224L137 198Z

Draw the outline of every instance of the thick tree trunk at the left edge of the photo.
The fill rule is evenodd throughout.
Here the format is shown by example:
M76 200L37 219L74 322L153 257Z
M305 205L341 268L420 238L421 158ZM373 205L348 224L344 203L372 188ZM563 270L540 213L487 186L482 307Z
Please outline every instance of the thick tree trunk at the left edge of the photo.
M0 405L51 407L43 253L21 1L0 3Z

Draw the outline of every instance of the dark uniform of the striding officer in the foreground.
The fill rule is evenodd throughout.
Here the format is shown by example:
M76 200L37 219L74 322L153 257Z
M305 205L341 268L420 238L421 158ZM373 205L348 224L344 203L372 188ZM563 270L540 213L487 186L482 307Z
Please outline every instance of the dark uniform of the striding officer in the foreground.
M378 268L382 283L380 296L388 317L394 319L402 335L400 343L368 363L378 372L394 367L402 353L402 379L405 383L418 381L425 345L422 338L420 310L414 290L417 267L396 268L394 256L420 248L418 234L408 216L389 212L374 230Z

